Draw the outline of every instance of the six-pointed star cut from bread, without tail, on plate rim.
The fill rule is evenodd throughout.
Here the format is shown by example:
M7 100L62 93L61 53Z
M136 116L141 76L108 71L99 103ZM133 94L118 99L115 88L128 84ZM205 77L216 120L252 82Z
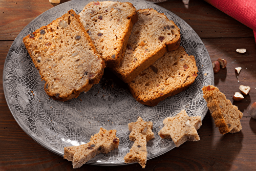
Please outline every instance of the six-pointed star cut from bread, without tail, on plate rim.
M163 139L172 139L178 147L186 141L199 141L197 130L202 125L201 116L189 117L183 109L174 117L163 120L164 127L158 135Z

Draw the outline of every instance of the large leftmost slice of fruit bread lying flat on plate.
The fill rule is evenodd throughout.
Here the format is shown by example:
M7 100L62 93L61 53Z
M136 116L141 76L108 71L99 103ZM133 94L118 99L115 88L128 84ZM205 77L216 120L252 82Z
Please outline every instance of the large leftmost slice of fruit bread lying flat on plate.
M104 62L79 20L70 10L23 38L35 67L55 100L78 97L98 83Z

